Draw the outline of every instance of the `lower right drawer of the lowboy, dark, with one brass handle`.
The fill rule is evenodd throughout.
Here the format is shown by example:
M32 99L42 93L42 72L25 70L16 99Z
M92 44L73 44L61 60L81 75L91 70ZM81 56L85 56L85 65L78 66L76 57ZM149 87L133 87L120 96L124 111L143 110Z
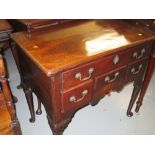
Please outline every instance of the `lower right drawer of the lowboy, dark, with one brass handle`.
M127 81L130 82L135 80L141 80L147 67L147 63L148 59L143 59L142 61L129 65Z

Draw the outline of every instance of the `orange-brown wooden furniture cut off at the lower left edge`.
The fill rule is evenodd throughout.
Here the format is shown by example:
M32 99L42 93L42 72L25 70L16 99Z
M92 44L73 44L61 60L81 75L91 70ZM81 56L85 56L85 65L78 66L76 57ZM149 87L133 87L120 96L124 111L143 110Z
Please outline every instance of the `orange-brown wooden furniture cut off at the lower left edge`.
M0 135L14 134L21 134L21 128L6 77L6 68L0 55Z

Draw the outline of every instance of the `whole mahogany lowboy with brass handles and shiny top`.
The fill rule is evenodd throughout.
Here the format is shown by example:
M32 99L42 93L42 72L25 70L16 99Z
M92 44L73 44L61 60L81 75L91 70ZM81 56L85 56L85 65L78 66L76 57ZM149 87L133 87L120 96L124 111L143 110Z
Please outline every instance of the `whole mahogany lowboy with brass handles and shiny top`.
M32 92L44 105L53 134L61 134L78 109L95 105L129 82L134 82L127 110L132 116L154 39L152 33L121 20L65 23L31 37L14 33L13 54L31 121L35 121Z

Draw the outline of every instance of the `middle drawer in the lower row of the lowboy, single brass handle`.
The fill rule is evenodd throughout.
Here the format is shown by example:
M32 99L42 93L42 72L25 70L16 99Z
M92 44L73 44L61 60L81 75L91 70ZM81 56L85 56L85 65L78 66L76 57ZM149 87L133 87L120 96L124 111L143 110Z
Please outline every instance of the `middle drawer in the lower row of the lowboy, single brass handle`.
M111 90L119 89L120 85L123 85L125 82L126 70L126 67L122 67L97 77L95 86L96 96L101 97Z

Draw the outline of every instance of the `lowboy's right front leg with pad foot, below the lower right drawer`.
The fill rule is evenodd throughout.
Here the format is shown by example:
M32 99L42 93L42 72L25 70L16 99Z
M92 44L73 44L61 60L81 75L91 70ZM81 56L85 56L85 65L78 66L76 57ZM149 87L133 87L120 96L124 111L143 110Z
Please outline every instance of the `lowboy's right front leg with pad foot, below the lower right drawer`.
M139 94L139 91L140 91L140 84L134 84L134 89L133 89L133 92L132 92L132 96L131 96L131 99L130 99L130 103L129 103L129 106L128 106L128 109L127 109L127 116L128 117L132 117L133 116L133 113L131 112L132 110L132 107L135 103L135 100L137 99L137 96Z

